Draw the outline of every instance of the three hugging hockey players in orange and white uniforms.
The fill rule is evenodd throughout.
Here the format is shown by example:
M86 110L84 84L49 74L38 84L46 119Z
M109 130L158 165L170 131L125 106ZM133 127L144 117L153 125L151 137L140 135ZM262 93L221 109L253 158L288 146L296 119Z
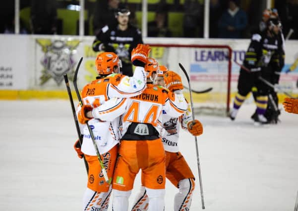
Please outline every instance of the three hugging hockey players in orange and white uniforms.
M83 142L77 141L74 148L88 163L83 211L107 211L112 192L113 211L128 211L128 198L140 169L142 184L133 211L164 211L166 178L179 189L174 210L190 209L194 175L179 152L179 127L194 136L201 135L203 127L192 119L180 76L148 58L149 52L146 44L132 50L135 70L131 77L119 74L118 55L100 53L95 61L99 75L82 89L84 105L78 107L77 118Z

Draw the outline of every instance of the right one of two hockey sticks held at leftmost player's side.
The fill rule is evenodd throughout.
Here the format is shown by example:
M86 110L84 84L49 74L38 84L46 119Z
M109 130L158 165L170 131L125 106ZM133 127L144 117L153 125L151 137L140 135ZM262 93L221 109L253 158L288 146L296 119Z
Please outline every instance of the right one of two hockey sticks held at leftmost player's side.
M79 63L76 66L76 69L75 69L75 72L74 72L74 77L73 77L73 86L74 86L75 93L76 93L76 95L78 97L78 100L79 100L79 103L80 103L80 106L81 107L84 105L84 103L82 101L80 92L79 92L78 87L77 87L77 84L76 84L76 82L77 82L76 78L77 78L77 74L78 74L79 67L80 67L80 64L81 64L82 60L83 60L83 57L80 58ZM88 130L89 130L89 133L90 133L90 136L91 136L91 139L92 139L92 143L93 143L94 148L95 148L95 151L96 151L96 155L97 155L97 158L98 158L100 167L102 168L102 172L104 174L104 178L105 178L106 182L109 182L109 177L108 177L107 171L106 171L106 169L104 167L103 160L100 157L99 150L98 150L97 144L95 142L93 131L92 131L91 127L89 126L88 122L86 123L86 125L88 127Z

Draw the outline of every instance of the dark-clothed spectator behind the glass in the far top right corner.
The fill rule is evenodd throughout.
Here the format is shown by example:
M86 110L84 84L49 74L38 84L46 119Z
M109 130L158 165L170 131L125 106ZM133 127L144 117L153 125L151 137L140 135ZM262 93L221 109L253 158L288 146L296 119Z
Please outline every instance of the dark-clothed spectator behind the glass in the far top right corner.
M298 39L298 0L276 0L276 8L283 23L284 36L287 37L293 29L290 39Z

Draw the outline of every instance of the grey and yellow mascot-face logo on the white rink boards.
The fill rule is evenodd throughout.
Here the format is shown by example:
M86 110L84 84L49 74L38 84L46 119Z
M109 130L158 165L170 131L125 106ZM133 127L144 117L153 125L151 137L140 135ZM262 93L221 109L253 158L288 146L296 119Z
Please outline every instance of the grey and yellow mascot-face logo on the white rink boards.
M41 45L44 56L41 59L43 66L40 85L47 83L51 78L60 85L63 81L63 75L68 73L69 80L72 81L74 74L75 61L73 54L80 43L79 40L63 41L51 39L36 39Z

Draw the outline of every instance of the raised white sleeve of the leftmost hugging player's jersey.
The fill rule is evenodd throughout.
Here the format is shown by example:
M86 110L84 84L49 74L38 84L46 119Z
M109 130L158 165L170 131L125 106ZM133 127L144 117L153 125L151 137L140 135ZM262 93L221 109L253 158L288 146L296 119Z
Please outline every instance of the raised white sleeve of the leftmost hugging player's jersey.
M132 77L122 76L119 78L119 82L108 85L108 97L123 98L139 95L146 88L146 79L144 68L136 67Z

